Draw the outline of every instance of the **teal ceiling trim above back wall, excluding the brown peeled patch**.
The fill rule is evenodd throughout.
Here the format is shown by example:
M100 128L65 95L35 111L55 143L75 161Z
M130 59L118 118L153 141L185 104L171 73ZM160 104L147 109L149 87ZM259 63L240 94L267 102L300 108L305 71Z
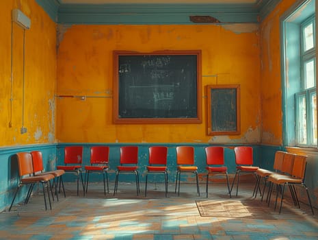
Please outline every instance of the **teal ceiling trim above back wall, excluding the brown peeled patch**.
M194 24L190 16L211 16L220 24L257 23L254 5L216 4L103 4L61 5L62 24Z

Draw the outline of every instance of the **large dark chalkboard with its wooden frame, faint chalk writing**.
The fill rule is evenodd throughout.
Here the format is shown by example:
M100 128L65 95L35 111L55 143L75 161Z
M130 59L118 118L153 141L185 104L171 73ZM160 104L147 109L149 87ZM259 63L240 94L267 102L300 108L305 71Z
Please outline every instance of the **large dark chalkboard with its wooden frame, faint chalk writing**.
M115 123L201 123L200 51L114 51Z

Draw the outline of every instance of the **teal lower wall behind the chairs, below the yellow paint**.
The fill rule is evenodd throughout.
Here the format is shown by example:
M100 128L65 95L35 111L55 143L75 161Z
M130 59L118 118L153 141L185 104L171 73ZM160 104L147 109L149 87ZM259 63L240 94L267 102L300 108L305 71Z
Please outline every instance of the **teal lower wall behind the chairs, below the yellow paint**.
M18 164L16 158L14 157L17 152L31 152L34 150L40 150L43 155L44 169L49 171L55 169L57 165L64 165L64 147L67 145L75 144L53 144L53 145L25 145L21 147L3 147L0 149L0 211L10 206L14 192L16 190L18 182ZM90 147L93 145L106 145L106 144L76 144L83 145L83 166L90 164ZM109 188L112 191L114 187L114 180L116 177L116 166L119 165L120 147L124 145L133 144L123 144L123 143L110 143L109 146ZM176 178L176 147L178 145L191 145L195 147L195 160L196 166L198 166L199 180L204 183L206 180L205 175L205 152L204 148L211 146L209 144L135 144L139 147L139 173L140 182L145 181L145 171L148 165L148 147L153 145L165 145L168 147L168 181L175 182ZM274 155L277 150L284 150L280 146L267 146L267 145L251 145L254 149L254 165L260 166L266 169L272 169L274 163ZM233 147L235 145L224 145L225 147L225 163L228 167L228 173L230 174L230 181L233 180L235 174L235 154ZM317 169L318 170L318 169ZM310 174L316 173L317 171L310 171ZM83 176L84 177L84 176ZM182 182L189 182L189 179L194 179L191 176L181 176ZM313 176L306 176L306 179L310 181ZM90 182L101 182L103 177L99 174L91 174ZM66 174L64 176L64 182L75 182L76 176L73 174ZM122 182L134 182L135 177L129 174L122 174L120 176L120 181ZM148 178L149 182L163 182L164 177L160 174L153 174ZM310 181L308 184L308 189L310 195L313 199L313 205L318 206L317 197L315 197L315 189L318 189L318 183L313 183ZM25 196L27 189L23 188L19 191L18 197L15 203L21 202L23 196Z

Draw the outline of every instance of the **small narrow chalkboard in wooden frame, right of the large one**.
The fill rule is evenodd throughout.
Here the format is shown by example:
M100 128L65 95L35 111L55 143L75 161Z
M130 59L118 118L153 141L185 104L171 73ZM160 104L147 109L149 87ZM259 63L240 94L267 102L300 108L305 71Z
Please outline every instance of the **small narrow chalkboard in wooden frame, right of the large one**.
M214 94L214 95L213 95ZM230 99L230 104L213 101L214 97L222 94L222 98ZM236 95L236 96L235 96ZM234 104L234 105L233 105ZM228 105L228 106L226 106ZM213 112L220 110L226 119L233 119L229 124L226 119L220 119ZM238 84L208 85L207 86L207 134L208 135L235 135L241 133L240 121L240 88Z

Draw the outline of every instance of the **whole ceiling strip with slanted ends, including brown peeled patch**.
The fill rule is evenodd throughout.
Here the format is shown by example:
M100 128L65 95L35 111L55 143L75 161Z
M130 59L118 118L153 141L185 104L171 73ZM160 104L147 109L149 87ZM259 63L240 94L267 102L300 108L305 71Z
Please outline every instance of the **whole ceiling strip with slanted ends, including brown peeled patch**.
M59 24L260 23L282 0L36 0Z

